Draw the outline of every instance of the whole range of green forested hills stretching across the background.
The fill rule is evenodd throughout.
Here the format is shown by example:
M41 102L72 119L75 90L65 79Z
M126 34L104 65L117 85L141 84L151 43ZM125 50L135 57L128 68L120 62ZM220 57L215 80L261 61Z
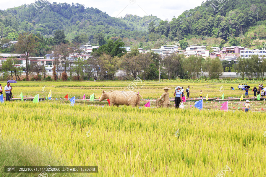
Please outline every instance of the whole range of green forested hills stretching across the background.
M186 10L179 17L173 17L170 22L155 16L110 17L97 8L85 8L78 3L36 3L44 9L36 10L34 4L29 4L0 10L1 38L16 40L19 33L27 31L53 37L56 30L64 30L69 41L85 34L86 40L82 42L103 45L112 37L120 37L126 39L123 41L133 39L131 43L125 42L126 45L140 42L137 46L149 49L194 37L202 40L208 37L235 40L235 37L242 38L249 27L255 25L254 35L260 39L266 37L266 0L206 1L201 6ZM234 43L241 45L241 40Z

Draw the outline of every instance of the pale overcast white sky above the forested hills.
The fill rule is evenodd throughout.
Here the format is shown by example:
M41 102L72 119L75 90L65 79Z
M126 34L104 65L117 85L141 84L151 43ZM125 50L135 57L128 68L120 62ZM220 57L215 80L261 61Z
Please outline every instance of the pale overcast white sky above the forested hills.
M178 17L185 10L200 6L200 0L48 0L49 2L84 4L86 7L96 7L106 12L111 17L121 17L126 14L133 14L143 17L144 15L154 15L162 20L170 20L173 16ZM35 0L0 0L0 9L8 9L14 6L34 3ZM40 4L40 3L39 3Z

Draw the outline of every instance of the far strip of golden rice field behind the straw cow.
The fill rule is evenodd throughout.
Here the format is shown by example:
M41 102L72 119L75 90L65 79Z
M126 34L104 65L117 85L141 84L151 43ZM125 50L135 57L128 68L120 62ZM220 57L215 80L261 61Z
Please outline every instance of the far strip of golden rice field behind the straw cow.
M1 82L0 82L1 83ZM76 96L76 98L83 97L86 94L86 97L93 94L96 98L100 97L102 91L128 91L127 87L129 86L130 81L104 81L104 82L92 82L92 81L83 81L83 82L18 82L12 83L11 86L14 88L12 90L13 95L20 95L23 92L23 95L36 95L48 96L49 91L52 89L53 98L64 98L66 94L69 94L69 97ZM5 86L6 83L1 83L2 86ZM252 88L256 86L258 88L259 83L249 84ZM45 86L45 89L43 87ZM200 91L203 92L203 97L208 94L209 98L221 97L224 94L224 97L240 97L242 94L245 95L244 91L238 91L238 84L236 83L158 83L158 82L148 82L143 81L142 83L137 84L137 88L134 91L140 92L143 98L158 98L162 93L162 88L168 86L171 88L169 90L170 96L173 98L174 89L176 86L183 86L184 90L190 86L190 97L199 97ZM223 86L222 89L221 86ZM235 90L231 90L231 86L235 87ZM266 83L265 83L266 86ZM249 95L254 95L250 89ZM220 90L222 92L220 92ZM45 92L43 92L45 91Z

